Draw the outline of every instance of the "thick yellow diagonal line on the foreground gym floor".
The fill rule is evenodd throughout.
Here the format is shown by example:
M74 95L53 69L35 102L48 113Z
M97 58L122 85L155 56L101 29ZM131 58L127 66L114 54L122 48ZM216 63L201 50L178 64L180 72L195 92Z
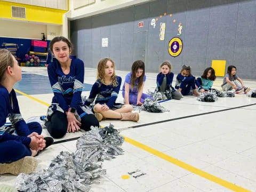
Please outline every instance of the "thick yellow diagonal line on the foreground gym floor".
M230 182L228 182L226 180L223 180L223 179L220 179L218 177L215 177L212 174L209 174L209 173L206 173L206 172L204 172L202 170L199 170L199 169L197 169L194 166L191 166L191 165L189 165L187 163L179 161L178 159L175 159L175 158L173 158L173 157L171 157L169 155L166 155L166 154L164 154L164 153L162 153L162 152L160 152L160 151L158 151L156 149L153 149L151 147L143 145L142 143L140 143L138 141L135 141L135 140L132 140L130 138L127 138L124 135L122 135L122 136L124 137L125 141L129 142L131 145L134 145L134 146L139 147L139 148L141 148L143 150L146 150L150 154L156 155L157 157L160 157L160 158L162 158L162 159L164 159L166 161L169 161L169 162L173 163L174 165L177 165L177 166L179 166L179 167L181 167L181 168L183 168L183 169L185 169L187 171L193 172L193 173L195 173L195 174L197 174L197 175L199 175L199 176L201 176L201 177L203 177L203 178L205 178L207 180L215 182L215 183L217 183L217 184L219 184L219 185L221 185L223 187L226 187L226 188L231 189L231 190L236 191L236 192L252 192L250 190L247 190L247 189L244 189L242 187L236 186L233 183L230 183Z

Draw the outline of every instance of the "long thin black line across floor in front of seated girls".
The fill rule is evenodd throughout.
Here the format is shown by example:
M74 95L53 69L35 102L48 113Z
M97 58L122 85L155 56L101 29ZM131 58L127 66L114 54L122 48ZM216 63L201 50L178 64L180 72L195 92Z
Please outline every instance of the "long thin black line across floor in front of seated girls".
M249 107L249 106L254 106L254 105L256 105L256 103L245 105L245 106L228 108L228 109L221 109L221 110L217 110L217 111L210 111L210 112L201 113L201 114L195 114L195 115L188 115L188 116L184 116L184 117L177 117L177 118L172 118L172 119L166 119L166 120L158 121L158 122L152 122L152 123L146 123L146 124L141 124L141 125L135 125L135 126L131 126L131 127L125 127L125 128L122 128L122 129L118 129L118 132L119 131L125 131L125 130L128 130L128 129L134 129L134 128L138 128L138 127L142 127L142 126L154 125L154 124L158 124L158 123L165 123L165 122L175 121L175 120L179 120L179 119L183 119L183 118L190 118L190 117L196 117L196 116L201 116L201 115L208 115L208 114L212 114L212 113L219 113L219 112L222 112L222 111L239 109L239 108ZM74 141L74 140L77 140L79 138L80 137L70 138L70 139L63 139L61 141L55 141L55 142L53 142L52 145L63 143L63 142L68 142L68 141Z

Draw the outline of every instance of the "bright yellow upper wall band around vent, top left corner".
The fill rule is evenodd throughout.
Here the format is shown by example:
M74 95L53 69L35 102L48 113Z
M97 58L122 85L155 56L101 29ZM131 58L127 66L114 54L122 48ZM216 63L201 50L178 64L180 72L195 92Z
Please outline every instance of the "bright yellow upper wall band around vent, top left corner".
M25 7L26 19L12 18L11 6ZM67 12L65 10L57 10L57 9L51 9L47 7L4 2L4 1L0 1L0 7L1 7L0 18L52 23L57 25L62 25L62 15Z

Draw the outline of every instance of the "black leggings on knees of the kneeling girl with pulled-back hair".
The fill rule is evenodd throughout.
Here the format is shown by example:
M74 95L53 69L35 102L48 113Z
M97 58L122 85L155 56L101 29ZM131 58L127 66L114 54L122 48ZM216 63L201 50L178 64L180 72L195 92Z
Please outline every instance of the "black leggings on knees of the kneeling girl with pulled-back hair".
M81 129L90 131L91 126L98 126L99 121L94 114L87 114L81 118ZM67 133L68 120L67 115L60 111L55 111L45 123L45 126L53 138L62 138Z

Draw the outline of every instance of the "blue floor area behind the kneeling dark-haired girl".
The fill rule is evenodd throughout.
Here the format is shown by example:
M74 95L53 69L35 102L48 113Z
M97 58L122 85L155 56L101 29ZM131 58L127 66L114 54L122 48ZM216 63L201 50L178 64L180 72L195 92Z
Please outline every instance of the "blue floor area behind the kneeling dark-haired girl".
M91 88L91 84L84 83L83 91L91 91ZM14 85L14 89L29 95L52 93L49 78L37 74L22 74L22 80ZM16 94L21 95L19 93Z

